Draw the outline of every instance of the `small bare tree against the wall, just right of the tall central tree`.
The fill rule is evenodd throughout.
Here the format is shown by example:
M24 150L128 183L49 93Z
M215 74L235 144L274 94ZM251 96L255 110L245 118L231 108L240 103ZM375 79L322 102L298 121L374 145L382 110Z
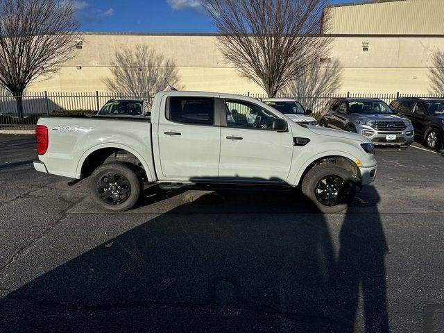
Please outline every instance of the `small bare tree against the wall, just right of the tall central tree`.
M287 96L294 96L305 106L305 108L318 111L318 107L325 105L323 95L330 95L341 88L343 69L339 60L334 59L328 65L321 63L309 67L296 80L291 81L283 89Z

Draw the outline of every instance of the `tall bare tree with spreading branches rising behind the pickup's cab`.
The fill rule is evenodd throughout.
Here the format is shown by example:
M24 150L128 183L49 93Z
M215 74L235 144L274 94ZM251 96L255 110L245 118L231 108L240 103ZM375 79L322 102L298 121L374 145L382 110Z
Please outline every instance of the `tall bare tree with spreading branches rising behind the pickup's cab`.
M223 56L273 97L317 61L330 44L329 37L313 36L326 23L326 2L203 0L203 7L221 33Z

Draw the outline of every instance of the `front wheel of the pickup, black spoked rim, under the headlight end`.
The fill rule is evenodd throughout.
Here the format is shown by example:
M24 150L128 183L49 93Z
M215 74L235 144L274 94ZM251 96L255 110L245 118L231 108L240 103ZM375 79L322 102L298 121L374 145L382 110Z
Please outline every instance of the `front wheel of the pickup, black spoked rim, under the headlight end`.
M348 208L355 198L356 182L352 174L334 164L318 164L302 180L302 194L323 213Z

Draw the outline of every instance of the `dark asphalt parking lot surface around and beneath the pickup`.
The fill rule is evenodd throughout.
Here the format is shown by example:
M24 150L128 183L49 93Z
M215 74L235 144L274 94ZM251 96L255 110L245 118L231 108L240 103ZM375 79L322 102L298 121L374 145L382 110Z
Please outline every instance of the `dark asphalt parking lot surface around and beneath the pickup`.
M152 188L109 214L0 135L0 331L443 332L444 155L415 146L344 214Z

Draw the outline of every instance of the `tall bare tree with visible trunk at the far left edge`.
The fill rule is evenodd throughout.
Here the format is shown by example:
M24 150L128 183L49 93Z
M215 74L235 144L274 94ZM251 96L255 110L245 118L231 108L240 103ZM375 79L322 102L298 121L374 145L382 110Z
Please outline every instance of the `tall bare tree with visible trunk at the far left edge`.
M0 85L23 120L24 89L74 56L78 22L70 0L0 0Z

